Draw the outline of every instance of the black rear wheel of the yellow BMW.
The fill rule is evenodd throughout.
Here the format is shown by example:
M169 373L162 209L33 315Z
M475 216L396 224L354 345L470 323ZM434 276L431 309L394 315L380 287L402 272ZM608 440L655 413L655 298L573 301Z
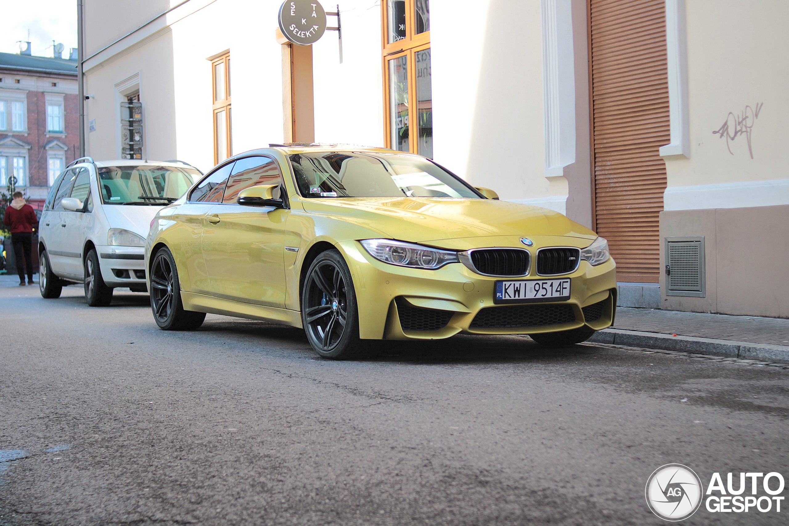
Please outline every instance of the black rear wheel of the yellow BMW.
M156 252L151 265L151 310L163 330L195 330L205 320L205 312L184 310L178 268L166 247Z

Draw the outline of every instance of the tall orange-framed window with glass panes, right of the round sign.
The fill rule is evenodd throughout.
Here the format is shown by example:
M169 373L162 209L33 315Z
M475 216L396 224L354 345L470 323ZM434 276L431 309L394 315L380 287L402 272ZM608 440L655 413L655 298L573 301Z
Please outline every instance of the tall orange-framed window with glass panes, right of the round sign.
M381 2L387 145L433 156L429 0Z

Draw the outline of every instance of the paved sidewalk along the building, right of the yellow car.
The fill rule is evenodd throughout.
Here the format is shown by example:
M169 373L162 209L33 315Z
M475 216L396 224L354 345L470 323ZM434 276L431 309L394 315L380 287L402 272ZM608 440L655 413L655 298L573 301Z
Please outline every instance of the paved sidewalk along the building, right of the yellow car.
M789 319L616 308L615 329L789 346Z

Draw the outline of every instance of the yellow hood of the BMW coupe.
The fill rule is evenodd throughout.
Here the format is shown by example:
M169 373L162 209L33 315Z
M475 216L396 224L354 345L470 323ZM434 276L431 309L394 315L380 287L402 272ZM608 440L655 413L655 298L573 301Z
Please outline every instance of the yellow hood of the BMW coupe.
M499 200L335 197L303 203L310 213L345 215L394 239L417 243L493 236L596 237L559 212Z

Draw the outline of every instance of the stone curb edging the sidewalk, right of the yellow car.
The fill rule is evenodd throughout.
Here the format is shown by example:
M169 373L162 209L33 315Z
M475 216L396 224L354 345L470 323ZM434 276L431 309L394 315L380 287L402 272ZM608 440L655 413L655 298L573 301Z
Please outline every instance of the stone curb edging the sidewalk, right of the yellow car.
M693 336L671 336L671 334L623 329L599 330L587 341L789 364L789 347L786 345L767 345L749 343L747 341L695 338Z

